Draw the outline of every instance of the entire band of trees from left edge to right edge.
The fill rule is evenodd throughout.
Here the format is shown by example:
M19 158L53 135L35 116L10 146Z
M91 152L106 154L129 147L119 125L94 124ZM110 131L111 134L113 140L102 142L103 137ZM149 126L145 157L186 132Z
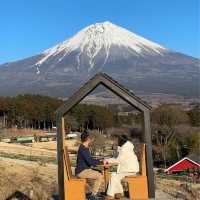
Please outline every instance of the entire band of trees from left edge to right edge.
M40 95L0 97L0 121L5 128L47 129L56 125L56 109L63 104L57 98ZM140 113L119 116L109 106L79 104L65 116L69 130L91 129L106 132L112 127L133 127L141 123ZM139 127L139 126L138 126ZM168 166L190 154L197 157L200 148L200 104L184 110L163 104L151 112L154 162Z

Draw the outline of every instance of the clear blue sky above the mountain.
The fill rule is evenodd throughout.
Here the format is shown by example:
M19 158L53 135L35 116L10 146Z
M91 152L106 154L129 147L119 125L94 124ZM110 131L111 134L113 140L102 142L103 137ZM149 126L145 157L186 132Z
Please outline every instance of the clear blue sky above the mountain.
M2 0L0 63L38 54L103 21L200 58L199 6L200 0Z

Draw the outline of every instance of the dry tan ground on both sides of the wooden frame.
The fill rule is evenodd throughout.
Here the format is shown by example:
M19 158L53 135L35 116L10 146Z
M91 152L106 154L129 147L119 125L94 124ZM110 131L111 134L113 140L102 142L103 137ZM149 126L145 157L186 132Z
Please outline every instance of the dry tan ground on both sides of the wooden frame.
M66 141L69 149L76 150L76 140ZM29 145L0 143L0 153L56 157L56 142ZM156 200L198 200L200 185L187 192L182 183L156 179ZM10 159L0 156L0 200L6 200L15 192L27 195L31 200L50 200L57 194L57 165Z

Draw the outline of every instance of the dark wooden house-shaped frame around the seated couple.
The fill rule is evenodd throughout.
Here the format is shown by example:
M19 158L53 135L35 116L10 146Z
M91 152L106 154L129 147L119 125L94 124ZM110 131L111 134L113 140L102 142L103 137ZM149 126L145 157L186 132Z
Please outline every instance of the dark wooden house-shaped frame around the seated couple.
M96 74L86 82L77 92L75 92L56 112L57 114L57 157L58 157L58 185L59 197L64 199L64 165L63 165L63 136L61 121L62 118L97 86L103 85L112 91L125 102L139 110L143 114L143 135L142 140L146 143L146 163L148 177L149 198L155 197L151 129L150 129L150 110L151 107L135 96L130 90L124 88L121 84L113 80L105 73ZM78 189L78 188L77 188Z

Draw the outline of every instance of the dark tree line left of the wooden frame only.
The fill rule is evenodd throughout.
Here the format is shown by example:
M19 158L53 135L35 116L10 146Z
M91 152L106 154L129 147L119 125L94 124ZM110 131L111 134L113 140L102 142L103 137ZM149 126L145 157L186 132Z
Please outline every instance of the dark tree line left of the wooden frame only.
M62 100L41 95L0 97L0 116L6 128L42 129L55 125L55 110Z

